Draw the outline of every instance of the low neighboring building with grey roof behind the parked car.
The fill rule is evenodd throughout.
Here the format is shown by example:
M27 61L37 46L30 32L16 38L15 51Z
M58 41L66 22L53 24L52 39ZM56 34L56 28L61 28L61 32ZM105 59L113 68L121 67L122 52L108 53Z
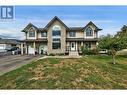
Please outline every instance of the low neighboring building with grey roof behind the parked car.
M0 52L5 52L12 47L20 47L20 41L16 39L0 39Z

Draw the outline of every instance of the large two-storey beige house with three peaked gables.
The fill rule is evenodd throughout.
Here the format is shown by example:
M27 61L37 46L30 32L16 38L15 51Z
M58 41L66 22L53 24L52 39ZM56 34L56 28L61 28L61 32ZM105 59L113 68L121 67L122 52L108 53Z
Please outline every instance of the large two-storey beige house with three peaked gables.
M44 28L29 23L22 32L22 54L65 54L80 53L81 47L96 48L98 28L93 22L84 27L68 27L55 16Z

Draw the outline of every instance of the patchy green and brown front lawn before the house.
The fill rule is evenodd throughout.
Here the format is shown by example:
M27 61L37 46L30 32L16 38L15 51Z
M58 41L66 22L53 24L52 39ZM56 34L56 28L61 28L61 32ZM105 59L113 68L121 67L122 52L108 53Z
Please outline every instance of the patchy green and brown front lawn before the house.
M49 58L0 76L1 89L127 89L127 56Z

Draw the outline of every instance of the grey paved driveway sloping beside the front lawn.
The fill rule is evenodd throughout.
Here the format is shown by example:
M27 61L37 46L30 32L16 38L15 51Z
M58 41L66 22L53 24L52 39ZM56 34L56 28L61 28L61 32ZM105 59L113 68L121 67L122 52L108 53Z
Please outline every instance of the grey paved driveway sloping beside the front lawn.
M28 64L38 58L40 55L10 55L0 56L0 75L17 69L25 64Z

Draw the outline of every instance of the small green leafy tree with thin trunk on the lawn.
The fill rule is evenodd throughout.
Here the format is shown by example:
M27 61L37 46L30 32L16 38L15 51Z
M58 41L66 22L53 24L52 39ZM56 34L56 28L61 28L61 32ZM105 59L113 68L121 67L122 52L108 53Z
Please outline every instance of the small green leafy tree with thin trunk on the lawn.
M117 51L127 48L127 37L124 35L107 35L101 36L98 47L100 49L107 49L111 51L113 64L115 64L115 56Z

